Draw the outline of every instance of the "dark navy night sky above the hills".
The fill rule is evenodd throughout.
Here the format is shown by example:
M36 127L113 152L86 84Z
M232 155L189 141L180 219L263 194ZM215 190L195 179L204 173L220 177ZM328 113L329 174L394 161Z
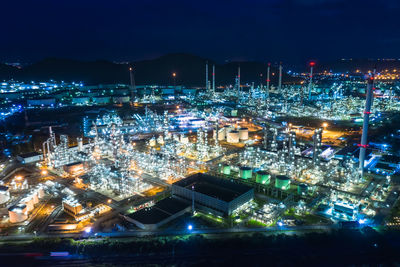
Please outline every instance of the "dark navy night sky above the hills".
M7 2L7 3L5 3ZM0 61L400 58L399 0L2 1Z

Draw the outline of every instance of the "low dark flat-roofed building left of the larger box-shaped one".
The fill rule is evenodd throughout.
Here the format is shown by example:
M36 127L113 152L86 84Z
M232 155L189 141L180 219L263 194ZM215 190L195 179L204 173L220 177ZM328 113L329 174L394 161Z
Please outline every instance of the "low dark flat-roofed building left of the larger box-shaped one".
M155 230L189 212L190 209L191 207L188 203L170 197L157 202L152 207L123 215L123 217L141 229Z

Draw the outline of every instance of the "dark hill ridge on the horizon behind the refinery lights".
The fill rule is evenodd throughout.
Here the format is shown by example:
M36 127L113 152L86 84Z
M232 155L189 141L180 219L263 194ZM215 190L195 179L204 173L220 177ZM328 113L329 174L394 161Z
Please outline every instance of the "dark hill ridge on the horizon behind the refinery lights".
M212 64L216 65L216 85L233 84L237 68L241 66L241 83L259 84L265 82L265 63L231 62L217 64L190 54L168 54L152 60L132 62L135 69L136 84L173 84L172 73L176 72L176 84L186 86L205 86L205 63L209 62L209 79L212 79ZM2 65L6 66L6 65ZM8 67L8 66L7 66ZM21 70L0 67L0 78L20 81L82 81L86 84L129 83L129 64L117 64L109 61L77 61L71 59L48 58ZM273 83L277 81L277 69L272 68ZM262 74L262 76L260 76ZM284 82L290 77L284 74Z

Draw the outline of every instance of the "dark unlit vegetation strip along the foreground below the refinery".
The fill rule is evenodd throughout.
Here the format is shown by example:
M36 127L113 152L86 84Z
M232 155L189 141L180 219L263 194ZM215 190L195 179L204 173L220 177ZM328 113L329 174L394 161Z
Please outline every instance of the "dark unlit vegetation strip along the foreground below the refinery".
M338 266L398 264L400 233L372 228L297 235L262 233L229 236L104 239L36 239L0 246L0 253L68 251L91 264L297 265ZM64 259L67 260L67 259ZM41 264L45 259L32 259ZM54 262L52 262L54 264Z

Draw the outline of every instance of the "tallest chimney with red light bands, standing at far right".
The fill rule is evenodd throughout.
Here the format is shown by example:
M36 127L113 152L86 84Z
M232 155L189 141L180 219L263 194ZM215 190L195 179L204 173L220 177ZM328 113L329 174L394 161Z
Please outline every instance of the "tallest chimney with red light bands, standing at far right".
M374 78L375 78L375 70L372 76L367 79L367 90L366 90L366 100L365 100L365 109L364 109L364 120L363 120L363 131L361 135L361 144L360 146L360 173L361 176L364 174L364 161L365 161L365 152L368 147L367 139L368 139L368 124L369 124L369 115L371 114L371 106L373 101L372 90L374 88Z

